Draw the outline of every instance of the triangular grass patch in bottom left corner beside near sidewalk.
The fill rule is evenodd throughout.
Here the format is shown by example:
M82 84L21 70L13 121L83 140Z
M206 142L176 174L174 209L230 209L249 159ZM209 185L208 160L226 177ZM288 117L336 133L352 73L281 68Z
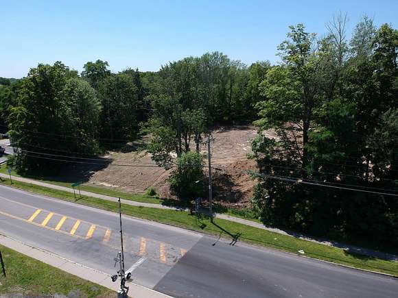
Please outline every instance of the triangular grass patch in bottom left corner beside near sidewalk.
M115 293L98 284L56 269L0 245L7 277L0 273L0 294L41 297L114 297Z

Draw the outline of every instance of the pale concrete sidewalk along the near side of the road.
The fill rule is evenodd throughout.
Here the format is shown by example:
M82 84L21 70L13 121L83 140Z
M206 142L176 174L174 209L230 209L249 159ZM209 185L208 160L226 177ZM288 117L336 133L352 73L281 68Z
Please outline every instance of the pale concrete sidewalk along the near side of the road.
M67 273L71 273L73 275L81 277L84 280L95 282L96 284L100 284L106 288L110 288L110 290L119 290L119 284L117 282L112 282L110 280L110 275L101 271L97 271L71 260L67 260L60 256L57 256L54 253L49 253L48 251L44 251L42 249L36 249L35 247L31 247L30 245L26 245L25 243L21 243L18 240L14 240L1 234L0 244L10 249L13 249L14 251L18 251L19 253L23 253L25 256L29 256L31 258L39 260L40 262L61 269L62 271L66 271ZM151 290L150 288L139 286L138 284L134 284L132 282L127 282L126 284L129 287L128 295L130 297L132 297L131 295L134 295L134 298L170 297L168 295L156 292L155 290Z

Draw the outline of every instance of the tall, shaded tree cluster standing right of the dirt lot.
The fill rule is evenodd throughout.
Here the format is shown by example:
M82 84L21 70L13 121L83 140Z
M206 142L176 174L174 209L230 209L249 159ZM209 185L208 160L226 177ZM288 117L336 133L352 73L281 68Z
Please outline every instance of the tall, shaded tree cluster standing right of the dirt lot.
M290 27L259 84L255 124L278 137L253 142L274 176L253 202L270 225L397 244L398 31L365 17L348 39L345 25L337 16L324 38Z

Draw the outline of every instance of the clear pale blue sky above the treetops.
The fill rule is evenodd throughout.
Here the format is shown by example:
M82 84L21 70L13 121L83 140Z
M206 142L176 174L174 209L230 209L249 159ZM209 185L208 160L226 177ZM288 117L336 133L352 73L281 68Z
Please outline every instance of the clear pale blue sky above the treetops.
M322 35L339 11L349 16L349 32L364 14L397 27L398 0L0 0L0 77L23 77L57 60L78 71L97 59L112 71L156 71L207 51L246 64L276 62L289 25Z

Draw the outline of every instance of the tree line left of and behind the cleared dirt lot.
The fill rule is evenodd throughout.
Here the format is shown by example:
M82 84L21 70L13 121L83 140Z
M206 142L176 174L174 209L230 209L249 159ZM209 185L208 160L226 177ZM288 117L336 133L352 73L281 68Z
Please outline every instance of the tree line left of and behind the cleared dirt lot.
M27 77L0 85L0 125L21 148L14 166L24 173L58 169L54 160L24 151L95 155L143 133L153 136L154 160L169 167L170 152L180 156L191 143L198 150L214 123L254 120L256 86L269 68L268 62L246 67L219 52L157 72L111 73L102 60L87 62L80 74L62 62L38 64Z

